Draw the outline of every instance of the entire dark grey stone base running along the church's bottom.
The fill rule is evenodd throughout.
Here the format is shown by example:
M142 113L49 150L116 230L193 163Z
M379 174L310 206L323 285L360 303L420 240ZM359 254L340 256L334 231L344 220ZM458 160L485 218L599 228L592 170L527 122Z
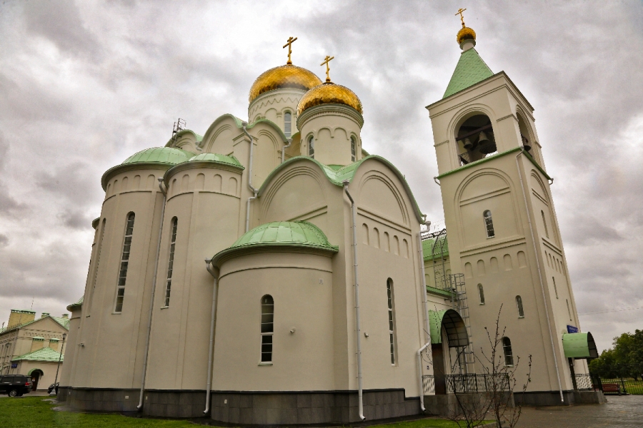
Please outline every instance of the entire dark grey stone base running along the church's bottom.
M139 389L60 387L58 400L85 412L138 412ZM142 414L150 417L204 417L205 391L146 389ZM422 414L419 397L404 389L365 390L367 422ZM360 422L357 391L211 393L209 417L227 424L325 424Z

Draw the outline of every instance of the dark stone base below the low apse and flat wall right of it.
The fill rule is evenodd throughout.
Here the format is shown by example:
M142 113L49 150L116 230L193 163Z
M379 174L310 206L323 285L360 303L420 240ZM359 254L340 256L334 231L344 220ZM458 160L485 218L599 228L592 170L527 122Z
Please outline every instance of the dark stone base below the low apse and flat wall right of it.
M419 397L404 389L363 392L367 422L421 414ZM357 391L213 392L211 417L226 424L326 424L360 422Z

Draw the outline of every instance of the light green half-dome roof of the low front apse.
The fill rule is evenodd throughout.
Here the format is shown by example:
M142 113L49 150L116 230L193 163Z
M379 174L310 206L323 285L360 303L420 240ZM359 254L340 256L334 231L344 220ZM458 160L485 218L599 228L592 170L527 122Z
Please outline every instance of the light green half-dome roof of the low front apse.
M212 258L216 264L222 256L242 248L251 247L283 247L318 248L337 253L339 247L331 245L328 238L316 225L306 221L274 221L260 225L241 235L229 248L217 253Z

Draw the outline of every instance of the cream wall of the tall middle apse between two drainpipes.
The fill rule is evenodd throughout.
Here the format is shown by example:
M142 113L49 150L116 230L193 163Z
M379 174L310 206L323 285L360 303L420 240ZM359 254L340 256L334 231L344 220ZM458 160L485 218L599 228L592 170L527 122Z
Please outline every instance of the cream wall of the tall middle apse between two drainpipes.
M166 175L169 199L161 238L148 384L152 389L203 389L213 287L203 260L238 238L241 174L214 163L183 164L175 171ZM173 218L176 244L166 306Z

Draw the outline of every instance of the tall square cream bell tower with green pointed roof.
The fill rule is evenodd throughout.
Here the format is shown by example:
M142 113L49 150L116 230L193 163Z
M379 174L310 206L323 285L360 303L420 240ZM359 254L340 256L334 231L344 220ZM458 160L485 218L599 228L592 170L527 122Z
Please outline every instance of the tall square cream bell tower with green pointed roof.
M457 43L462 54L447 90L427 110L449 261L465 276L473 351L489 355L484 327L493 332L502 305L502 353L506 365L519 364L519 384L533 359L532 382L517 399L571 403L575 374L587 373L587 363L564 349L579 320L534 108L504 71L493 73L482 60L464 18ZM467 371L482 373L479 364L467 362Z

